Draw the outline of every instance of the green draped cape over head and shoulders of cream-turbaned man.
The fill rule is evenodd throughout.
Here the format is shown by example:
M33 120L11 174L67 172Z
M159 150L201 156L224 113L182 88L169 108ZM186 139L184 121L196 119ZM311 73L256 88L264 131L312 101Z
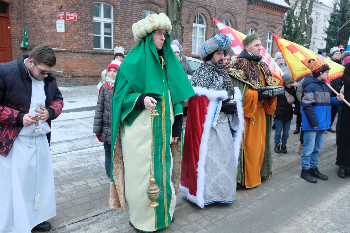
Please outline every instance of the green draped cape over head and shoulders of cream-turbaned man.
M165 39L162 50L165 60L163 69L166 69L172 102L176 106L181 106L181 104L177 103L195 95L195 92L179 60L170 48L169 36ZM120 123L131 125L139 116L142 110L134 109L134 105L141 94L162 99L163 81L162 65L152 34L147 34L147 36L142 38L142 41L127 54L120 64L117 73L112 99L112 159ZM128 98L126 98L127 95L129 96ZM125 101L128 107L125 107ZM111 181L114 181L112 174Z

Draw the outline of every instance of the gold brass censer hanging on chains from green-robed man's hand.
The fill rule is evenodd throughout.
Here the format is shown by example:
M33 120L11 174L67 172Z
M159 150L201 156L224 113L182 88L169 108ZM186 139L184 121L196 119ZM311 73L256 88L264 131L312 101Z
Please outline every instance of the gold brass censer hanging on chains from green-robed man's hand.
M150 168L150 174L149 174L149 185L146 190L148 199L151 200L150 203L148 203L148 206L151 208L155 208L159 205L157 202L157 199L160 195L160 188L159 186L155 183L154 179L154 138L153 138L153 123L154 123L154 117L159 116L158 111L154 108L151 112L151 117L152 117L152 152L151 152L151 168ZM157 121L158 122L158 118ZM157 126L157 125L156 125Z

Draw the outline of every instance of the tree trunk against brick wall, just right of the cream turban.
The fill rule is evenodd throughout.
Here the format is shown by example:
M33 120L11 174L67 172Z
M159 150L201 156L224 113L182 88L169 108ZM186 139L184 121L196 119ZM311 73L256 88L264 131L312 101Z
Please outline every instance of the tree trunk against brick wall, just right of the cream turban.
M182 45L182 34L183 34L183 24L182 24L182 6L184 0L168 0L168 16L172 22L172 32L170 37L177 39Z

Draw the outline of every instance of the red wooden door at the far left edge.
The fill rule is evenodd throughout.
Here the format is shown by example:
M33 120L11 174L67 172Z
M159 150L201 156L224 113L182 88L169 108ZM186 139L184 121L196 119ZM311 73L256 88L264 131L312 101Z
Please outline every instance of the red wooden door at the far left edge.
M3 3L0 2L2 5ZM1 7L0 12L0 63L12 61L11 35L8 7Z

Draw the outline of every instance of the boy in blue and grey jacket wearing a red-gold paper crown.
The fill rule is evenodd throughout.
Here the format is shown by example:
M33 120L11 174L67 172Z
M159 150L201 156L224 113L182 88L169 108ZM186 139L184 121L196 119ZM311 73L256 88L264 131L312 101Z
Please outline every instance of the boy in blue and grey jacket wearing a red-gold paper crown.
M300 177L308 182L316 183L316 178L328 179L328 176L318 171L318 152L323 146L324 132L331 123L330 106L342 103L344 95L331 97L331 90L325 84L330 67L323 58L310 59L308 65L313 77L305 78L303 82L301 116L304 144L301 153Z

